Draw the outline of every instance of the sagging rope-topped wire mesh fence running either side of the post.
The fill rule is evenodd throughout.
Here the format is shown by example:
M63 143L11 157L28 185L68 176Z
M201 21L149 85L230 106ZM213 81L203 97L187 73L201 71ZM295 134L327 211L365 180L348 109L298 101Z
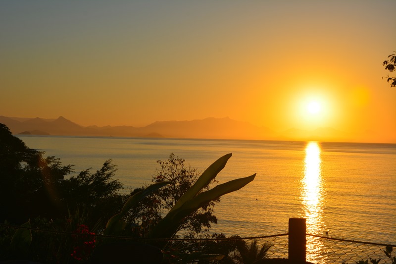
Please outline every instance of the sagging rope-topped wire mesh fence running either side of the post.
M95 233L79 233L79 232L65 232L59 230L49 230L49 229L38 229L32 227L21 227L9 224L0 223L0 237L3 236L5 231L10 232L11 235L18 229L29 229L36 239L43 238L44 236L51 237L63 237L72 238L76 237L92 237L94 239L100 240L105 238L113 238L124 241L171 241L171 242L197 242L205 243L209 241L230 241L230 240L244 240L247 244L256 240L259 246L264 244L271 245L271 248L267 252L267 257L271 259L287 259L289 251L289 233L269 235L269 236L255 236L255 237L238 237L238 238L213 238L213 239L141 239L134 238L130 236L106 236L98 235ZM90 240L90 239L86 239ZM44 246L44 245L41 245ZM396 245L391 244L381 244L372 242L355 241L348 239L338 239L326 236L318 236L313 234L306 234L306 260L308 262L316 264L328 264L328 263L339 263L339 264L355 264L359 261L376 259L380 260L380 264L392 264L392 260L386 256L384 252L386 248L395 248ZM392 253L395 256L395 253Z

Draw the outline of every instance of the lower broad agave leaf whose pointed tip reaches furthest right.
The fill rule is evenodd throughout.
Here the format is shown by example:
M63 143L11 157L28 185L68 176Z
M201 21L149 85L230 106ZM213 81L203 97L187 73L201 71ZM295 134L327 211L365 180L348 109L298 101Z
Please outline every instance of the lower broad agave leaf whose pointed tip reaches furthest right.
M237 191L251 182L256 174L251 176L235 179L223 184L219 184L213 189L207 190L185 202L176 210L171 210L165 217L158 222L151 230L149 236L152 238L168 238L172 237L180 226L182 220L190 213L197 211L206 203L227 193Z

